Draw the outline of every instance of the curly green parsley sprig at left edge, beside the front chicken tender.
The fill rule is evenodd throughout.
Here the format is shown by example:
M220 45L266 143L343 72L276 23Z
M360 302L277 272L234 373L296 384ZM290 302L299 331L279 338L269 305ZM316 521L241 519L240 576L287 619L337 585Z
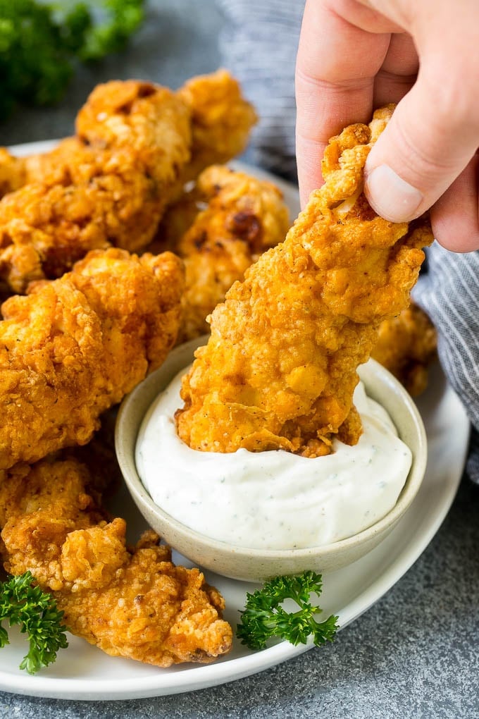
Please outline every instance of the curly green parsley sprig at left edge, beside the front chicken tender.
M33 584L30 572L0 582L0 648L9 644L9 636L1 622L18 624L29 638L29 651L20 664L29 674L35 674L52 664L58 649L65 649L68 641L62 625L63 612L57 610L52 595Z

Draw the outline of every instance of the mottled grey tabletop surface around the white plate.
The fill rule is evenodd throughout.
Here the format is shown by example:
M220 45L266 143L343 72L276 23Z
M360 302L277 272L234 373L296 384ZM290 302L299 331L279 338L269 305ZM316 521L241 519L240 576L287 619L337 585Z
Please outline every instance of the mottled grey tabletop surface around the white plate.
M0 144L73 132L93 86L145 78L180 86L221 64L223 19L214 0L151 0L128 52L83 70L55 109L17 114ZM234 68L231 68L234 71ZM478 718L479 487L462 480L422 557L381 601L325 649L194 694L121 702L66 702L0 693L0 716L73 718Z

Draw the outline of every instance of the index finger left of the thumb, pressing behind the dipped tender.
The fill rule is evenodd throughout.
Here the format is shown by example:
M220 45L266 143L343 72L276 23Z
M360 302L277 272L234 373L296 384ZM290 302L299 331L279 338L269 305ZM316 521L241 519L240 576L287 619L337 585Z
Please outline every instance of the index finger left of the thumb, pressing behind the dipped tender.
M390 33L399 29L360 3L335 6L348 19L329 0L307 0L299 38L296 152L303 206L322 185L321 158L330 137L348 124L371 119L374 78Z

